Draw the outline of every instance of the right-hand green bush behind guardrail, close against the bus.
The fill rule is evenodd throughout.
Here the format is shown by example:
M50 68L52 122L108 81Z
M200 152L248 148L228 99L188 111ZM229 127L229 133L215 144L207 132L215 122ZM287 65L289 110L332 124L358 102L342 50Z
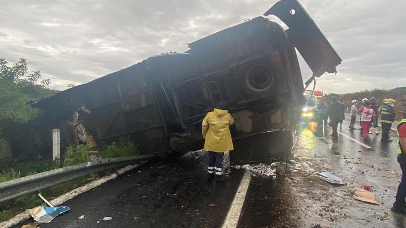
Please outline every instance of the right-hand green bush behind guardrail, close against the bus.
M113 142L102 153L102 158L119 158L139 155L140 151L129 138L121 138L119 143Z

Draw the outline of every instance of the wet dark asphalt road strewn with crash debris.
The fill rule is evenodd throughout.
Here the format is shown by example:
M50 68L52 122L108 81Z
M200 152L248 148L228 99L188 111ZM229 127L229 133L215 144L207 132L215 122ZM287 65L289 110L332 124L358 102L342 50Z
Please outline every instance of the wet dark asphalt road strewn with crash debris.
M348 125L341 132L363 142L362 132ZM301 132L291 179L275 174L278 164L260 164L227 168L227 181L208 181L206 154L196 151L150 162L94 188L66 202L69 213L41 227L221 227L238 207L237 227L405 227L405 217L390 211L400 180L395 132L394 142L385 145L381 135L369 135L367 149L344 135L331 140L331 128L324 130L321 137ZM246 170L247 191L238 193ZM331 185L316 171L332 172L347 185ZM380 205L354 199L354 188L363 185L371 186ZM241 205L233 204L236 195L245 197ZM100 221L107 216L112 219Z

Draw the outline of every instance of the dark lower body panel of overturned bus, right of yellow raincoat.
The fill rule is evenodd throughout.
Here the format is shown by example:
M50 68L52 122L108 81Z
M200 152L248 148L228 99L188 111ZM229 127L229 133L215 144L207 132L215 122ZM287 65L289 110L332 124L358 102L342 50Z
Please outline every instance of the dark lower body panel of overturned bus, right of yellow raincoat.
M231 165L271 163L291 159L292 131L266 132L233 141Z

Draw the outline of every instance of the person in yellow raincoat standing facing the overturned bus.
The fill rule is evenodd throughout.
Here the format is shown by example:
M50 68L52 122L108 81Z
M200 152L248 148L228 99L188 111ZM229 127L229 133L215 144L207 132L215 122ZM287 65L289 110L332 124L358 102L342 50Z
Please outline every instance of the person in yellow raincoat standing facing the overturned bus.
M234 119L228 113L227 106L227 102L220 101L201 123L201 134L206 139L204 149L209 153L209 179L223 180L224 152L234 149L229 128L234 124Z

